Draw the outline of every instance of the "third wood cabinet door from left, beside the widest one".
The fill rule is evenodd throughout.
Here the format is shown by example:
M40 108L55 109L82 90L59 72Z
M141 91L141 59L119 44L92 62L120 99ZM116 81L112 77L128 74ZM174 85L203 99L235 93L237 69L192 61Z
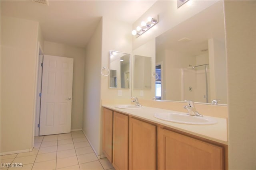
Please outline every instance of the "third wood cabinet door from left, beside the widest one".
M156 170L156 126L129 119L129 170Z

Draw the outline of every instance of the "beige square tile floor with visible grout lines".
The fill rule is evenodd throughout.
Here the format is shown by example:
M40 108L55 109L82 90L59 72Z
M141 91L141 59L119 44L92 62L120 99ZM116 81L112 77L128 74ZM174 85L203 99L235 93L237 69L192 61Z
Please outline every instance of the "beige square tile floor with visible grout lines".
M2 170L114 170L107 158L98 159L82 131L35 137L32 152L1 156ZM22 163L22 168L4 168Z

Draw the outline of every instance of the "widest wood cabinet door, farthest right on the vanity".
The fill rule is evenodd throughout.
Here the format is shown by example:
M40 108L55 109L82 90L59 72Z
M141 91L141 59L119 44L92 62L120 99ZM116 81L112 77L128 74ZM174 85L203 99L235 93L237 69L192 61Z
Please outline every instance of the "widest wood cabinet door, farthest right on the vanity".
M158 170L223 170L224 148L158 128Z

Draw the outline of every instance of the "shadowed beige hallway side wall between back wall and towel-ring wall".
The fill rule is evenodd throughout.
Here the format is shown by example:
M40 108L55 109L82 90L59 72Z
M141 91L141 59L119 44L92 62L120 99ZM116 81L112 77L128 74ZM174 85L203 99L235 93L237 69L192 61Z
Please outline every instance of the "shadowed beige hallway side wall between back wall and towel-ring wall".
M84 62L83 131L97 155L101 154L101 57L102 20L86 46Z

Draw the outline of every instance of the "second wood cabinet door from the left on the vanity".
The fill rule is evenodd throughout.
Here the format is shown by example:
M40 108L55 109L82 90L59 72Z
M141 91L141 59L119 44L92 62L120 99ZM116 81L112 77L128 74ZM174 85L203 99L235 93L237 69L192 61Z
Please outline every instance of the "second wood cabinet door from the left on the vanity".
M128 116L114 111L113 166L116 170L128 170Z

